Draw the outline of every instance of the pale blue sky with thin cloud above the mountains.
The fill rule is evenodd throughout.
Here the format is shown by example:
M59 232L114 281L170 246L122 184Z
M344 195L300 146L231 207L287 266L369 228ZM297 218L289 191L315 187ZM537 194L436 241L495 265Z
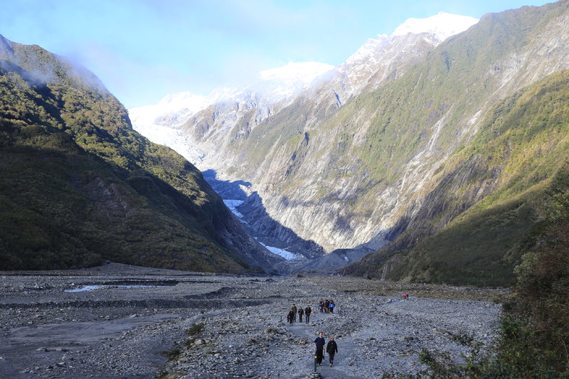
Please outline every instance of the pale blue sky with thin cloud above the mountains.
M0 34L85 66L132 108L176 92L242 87L287 63L339 65L408 18L480 18L548 2L0 0Z

